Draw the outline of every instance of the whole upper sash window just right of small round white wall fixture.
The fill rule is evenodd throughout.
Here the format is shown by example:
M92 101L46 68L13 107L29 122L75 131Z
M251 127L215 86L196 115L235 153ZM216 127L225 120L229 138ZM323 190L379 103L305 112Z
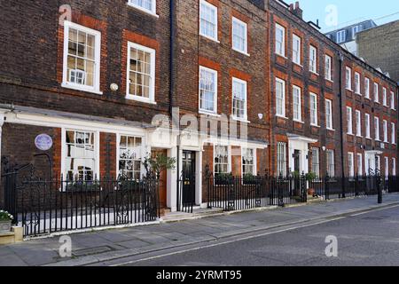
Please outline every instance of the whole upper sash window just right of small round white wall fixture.
M128 43L127 98L144 102L155 100L155 50Z

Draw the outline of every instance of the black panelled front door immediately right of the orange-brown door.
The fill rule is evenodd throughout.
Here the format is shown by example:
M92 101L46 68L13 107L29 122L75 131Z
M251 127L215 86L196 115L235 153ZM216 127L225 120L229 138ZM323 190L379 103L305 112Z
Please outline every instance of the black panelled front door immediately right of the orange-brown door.
M195 203L195 152L183 151L183 205Z

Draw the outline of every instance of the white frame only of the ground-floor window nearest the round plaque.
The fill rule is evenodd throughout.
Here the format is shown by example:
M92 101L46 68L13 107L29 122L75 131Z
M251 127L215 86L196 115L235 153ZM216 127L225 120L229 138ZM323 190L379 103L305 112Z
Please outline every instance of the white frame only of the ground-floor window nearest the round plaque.
M99 160L100 160L100 154L99 154L99 137L100 133L98 130L90 130L90 129L74 129L74 128L62 128L61 129L61 174L63 175L64 179L66 180L67 178L67 169L66 169L66 154L67 154L67 148L66 148L66 132L67 131L74 131L74 132L91 132L94 134L94 169L93 169L93 179L98 177L99 174Z

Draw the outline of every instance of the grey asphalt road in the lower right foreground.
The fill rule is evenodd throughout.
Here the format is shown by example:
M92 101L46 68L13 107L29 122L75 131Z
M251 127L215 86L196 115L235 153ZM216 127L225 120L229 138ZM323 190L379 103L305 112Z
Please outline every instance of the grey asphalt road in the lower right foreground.
M330 235L337 238L336 257L325 255L329 244L325 238ZM113 265L399 265L399 206L176 248Z

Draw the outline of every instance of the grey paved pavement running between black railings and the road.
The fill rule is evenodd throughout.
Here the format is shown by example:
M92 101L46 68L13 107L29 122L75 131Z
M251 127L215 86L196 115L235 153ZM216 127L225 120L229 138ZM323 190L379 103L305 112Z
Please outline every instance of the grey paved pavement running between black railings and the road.
M61 257L60 237L33 239L0 247L1 266L104 265L133 256L159 255L167 249L212 244L248 233L278 230L289 225L325 222L336 217L362 214L399 205L399 194L325 201L307 206L255 210L239 214L208 215L159 225L143 225L70 235L72 256ZM169 220L171 221L171 220ZM222 263L219 263L222 264Z

